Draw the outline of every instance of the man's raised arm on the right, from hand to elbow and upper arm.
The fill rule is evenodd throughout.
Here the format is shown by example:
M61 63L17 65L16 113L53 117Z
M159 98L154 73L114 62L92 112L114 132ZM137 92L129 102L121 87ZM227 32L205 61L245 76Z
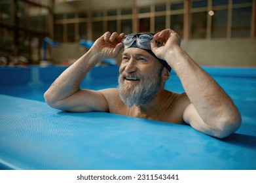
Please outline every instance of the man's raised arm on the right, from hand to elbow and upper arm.
M229 95L179 46L171 29L155 35L163 46L153 45L156 56L165 59L181 80L191 104L183 114L194 129L214 137L227 137L240 127L241 116Z

